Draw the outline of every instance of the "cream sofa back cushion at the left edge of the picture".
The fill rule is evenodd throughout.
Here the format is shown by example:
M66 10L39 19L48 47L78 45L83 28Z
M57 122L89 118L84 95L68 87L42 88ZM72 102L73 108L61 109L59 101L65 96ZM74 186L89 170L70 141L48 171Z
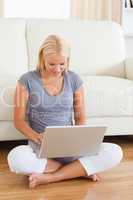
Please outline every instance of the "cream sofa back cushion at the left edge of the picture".
M28 70L25 20L0 19L0 73L22 74Z

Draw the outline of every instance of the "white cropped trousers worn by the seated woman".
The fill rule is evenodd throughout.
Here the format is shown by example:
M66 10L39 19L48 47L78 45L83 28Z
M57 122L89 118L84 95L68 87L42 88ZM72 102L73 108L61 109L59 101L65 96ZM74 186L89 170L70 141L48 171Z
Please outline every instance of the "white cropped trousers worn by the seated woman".
M80 157L78 160L89 176L116 166L122 157L120 146L102 143L97 155ZM21 174L44 173L47 165L47 159L38 158L29 145L15 147L9 152L7 159L10 170Z

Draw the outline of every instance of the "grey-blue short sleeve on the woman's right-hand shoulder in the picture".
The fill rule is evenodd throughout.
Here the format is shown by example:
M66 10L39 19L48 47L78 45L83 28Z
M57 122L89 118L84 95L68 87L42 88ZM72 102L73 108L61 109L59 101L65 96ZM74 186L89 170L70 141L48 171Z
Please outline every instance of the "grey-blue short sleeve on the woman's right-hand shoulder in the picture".
M83 80L77 73L73 71L69 71L69 76L70 76L72 90L73 92L76 92L76 90L78 90L83 85Z

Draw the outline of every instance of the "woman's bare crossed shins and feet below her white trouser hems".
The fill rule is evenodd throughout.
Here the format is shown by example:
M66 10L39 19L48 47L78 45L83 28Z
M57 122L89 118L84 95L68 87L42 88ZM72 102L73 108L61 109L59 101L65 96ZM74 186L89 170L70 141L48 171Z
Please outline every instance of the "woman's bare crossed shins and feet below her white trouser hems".
M33 173L29 176L29 187L34 188L40 184L58 182L76 177L86 177L93 181L100 179L96 174L87 176L86 171L78 160L67 165L62 165L54 160L48 160L43 174Z

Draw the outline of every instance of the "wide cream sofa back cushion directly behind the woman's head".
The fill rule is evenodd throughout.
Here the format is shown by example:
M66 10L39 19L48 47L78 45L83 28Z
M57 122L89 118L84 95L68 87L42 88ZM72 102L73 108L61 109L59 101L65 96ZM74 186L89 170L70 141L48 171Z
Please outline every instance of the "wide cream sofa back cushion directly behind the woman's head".
M81 75L125 77L125 47L121 27L109 21L27 21L29 68L35 69L38 50L49 34L58 34L71 45L70 69Z

